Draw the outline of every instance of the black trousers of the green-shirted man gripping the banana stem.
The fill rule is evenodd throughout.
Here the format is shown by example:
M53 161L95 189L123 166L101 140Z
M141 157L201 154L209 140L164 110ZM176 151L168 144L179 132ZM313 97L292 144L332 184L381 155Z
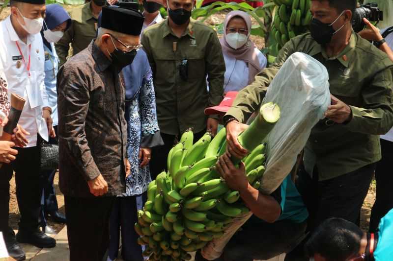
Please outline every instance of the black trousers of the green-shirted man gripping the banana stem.
M315 168L313 178L302 166L297 188L309 211L309 231L330 217L341 217L360 225L360 211L368 192L376 164L330 180L319 181Z

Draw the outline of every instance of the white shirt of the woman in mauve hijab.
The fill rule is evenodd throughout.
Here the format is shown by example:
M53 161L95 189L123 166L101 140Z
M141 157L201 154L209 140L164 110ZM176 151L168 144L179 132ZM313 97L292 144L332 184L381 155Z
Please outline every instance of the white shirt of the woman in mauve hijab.
M255 50L258 52L258 60L262 70L267 65L267 59L262 52L256 47ZM248 85L249 82L249 65L245 61L237 60L233 56L229 56L224 53L225 60L225 81L224 81L224 92L240 91Z

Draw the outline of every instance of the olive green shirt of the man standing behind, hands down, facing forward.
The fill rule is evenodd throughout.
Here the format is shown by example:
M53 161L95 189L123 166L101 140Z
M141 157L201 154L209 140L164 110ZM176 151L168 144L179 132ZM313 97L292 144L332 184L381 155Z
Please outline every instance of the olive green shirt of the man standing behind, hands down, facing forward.
M146 28L141 44L153 70L160 131L172 135L190 127L194 133L203 131L204 109L218 105L224 93L225 62L216 32L191 19L178 38L166 20ZM179 73L184 59L188 60L187 81Z

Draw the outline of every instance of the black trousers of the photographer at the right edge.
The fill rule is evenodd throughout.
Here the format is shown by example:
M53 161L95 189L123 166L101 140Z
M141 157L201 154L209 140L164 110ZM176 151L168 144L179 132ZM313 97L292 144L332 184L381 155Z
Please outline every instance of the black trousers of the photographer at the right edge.
M375 179L377 181L376 198L371 209L370 232L378 229L381 218L393 209L393 142L381 140L382 159L377 163Z

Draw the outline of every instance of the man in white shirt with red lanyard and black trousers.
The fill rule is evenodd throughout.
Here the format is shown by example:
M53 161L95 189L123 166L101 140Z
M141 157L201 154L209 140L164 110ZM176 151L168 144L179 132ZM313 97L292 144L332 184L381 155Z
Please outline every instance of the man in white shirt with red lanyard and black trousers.
M0 22L0 64L11 93L26 99L19 124L28 131L28 143L17 148L18 157L0 168L0 201L9 201L9 180L15 171L16 195L21 219L16 240L37 247L55 247L56 240L38 228L42 192L40 175L40 139L53 135L48 96L44 85L44 50L40 31L45 16L45 0L11 0L11 15ZM39 138L38 135L41 137ZM4 189L3 189L4 188ZM1 204L3 206L4 204ZM8 208L0 209L0 231L8 252L16 260L25 254L8 227Z

